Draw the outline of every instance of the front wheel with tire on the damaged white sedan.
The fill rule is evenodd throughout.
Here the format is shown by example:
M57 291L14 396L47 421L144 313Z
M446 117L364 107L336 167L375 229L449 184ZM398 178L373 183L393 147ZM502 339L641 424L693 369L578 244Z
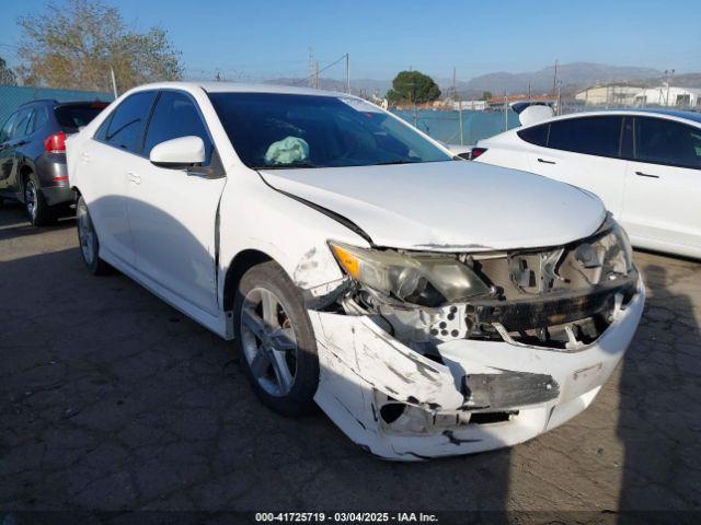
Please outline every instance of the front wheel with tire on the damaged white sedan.
M276 262L254 266L233 304L234 345L256 396L284 416L314 409L317 341L301 293Z

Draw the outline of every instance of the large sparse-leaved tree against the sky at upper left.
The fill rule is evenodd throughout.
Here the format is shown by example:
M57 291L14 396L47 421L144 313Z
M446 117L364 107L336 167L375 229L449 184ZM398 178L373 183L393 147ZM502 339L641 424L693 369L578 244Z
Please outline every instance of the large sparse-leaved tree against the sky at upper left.
M18 24L26 84L103 91L111 89L110 68L120 91L182 77L181 54L164 30L128 31L119 11L100 0L50 1Z

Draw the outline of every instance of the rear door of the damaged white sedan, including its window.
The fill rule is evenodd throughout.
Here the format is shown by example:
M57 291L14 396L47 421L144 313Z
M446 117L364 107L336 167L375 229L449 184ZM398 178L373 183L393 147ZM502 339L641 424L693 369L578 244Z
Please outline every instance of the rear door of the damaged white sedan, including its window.
M79 188L95 225L101 250L134 265L127 217L128 185L140 160L143 130L157 92L135 93L114 109L79 154Z

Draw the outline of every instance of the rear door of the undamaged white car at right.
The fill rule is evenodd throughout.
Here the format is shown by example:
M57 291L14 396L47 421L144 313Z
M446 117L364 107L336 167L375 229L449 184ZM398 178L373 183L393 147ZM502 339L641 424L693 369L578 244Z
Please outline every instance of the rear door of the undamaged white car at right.
M609 211L620 214L627 166L620 158L622 120L620 115L607 115L541 125L533 137L542 140L547 126L547 138L544 145L535 144L529 151L530 170L587 189L599 196Z

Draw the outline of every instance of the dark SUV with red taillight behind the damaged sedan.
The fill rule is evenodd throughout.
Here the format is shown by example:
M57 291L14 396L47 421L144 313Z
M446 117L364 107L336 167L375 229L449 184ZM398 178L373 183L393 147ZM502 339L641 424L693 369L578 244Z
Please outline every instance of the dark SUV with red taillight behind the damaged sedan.
M73 202L66 170L66 136L107 106L104 102L32 101L0 130L0 207L23 202L32 224L50 223Z

